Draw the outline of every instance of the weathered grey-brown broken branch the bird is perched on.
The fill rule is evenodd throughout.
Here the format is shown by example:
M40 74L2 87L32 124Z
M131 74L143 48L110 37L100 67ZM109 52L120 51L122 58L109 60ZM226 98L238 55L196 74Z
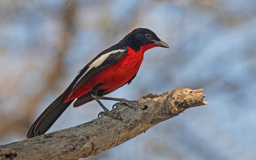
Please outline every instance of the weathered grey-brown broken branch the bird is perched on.
M42 136L0 145L1 159L79 159L102 153L145 132L152 126L175 117L190 107L207 105L203 89L177 88L172 92L144 95L140 109L120 105L113 111L121 120L101 116Z

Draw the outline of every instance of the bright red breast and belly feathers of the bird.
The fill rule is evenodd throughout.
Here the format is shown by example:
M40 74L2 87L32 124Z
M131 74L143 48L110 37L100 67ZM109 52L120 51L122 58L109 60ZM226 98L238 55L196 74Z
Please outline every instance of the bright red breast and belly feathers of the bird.
M98 83L102 84L98 90L106 90L105 92L109 92L128 82L138 72L143 60L143 53L139 51L135 52L129 47L128 49L128 53L120 61L100 72L85 84L82 84L72 93L69 99L67 99L68 93L63 103L91 92L92 88Z

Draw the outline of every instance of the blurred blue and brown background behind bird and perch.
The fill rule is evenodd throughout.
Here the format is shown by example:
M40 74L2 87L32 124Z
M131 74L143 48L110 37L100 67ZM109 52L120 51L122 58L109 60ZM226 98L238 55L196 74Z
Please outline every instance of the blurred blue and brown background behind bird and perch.
M142 27L170 49L146 51L133 82L109 96L204 88L210 104L88 159L255 159L255 0L0 1L0 17L0 144L26 139L80 69ZM69 107L47 133L100 111Z

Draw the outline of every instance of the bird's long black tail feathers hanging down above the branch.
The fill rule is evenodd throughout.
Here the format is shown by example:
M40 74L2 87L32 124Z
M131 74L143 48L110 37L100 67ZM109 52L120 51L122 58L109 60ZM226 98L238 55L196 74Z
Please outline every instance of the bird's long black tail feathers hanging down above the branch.
M44 134L53 123L59 118L59 116L67 109L67 107L74 101L68 101L67 103L62 103L63 99L67 95L69 86L65 92L63 92L53 103L51 103L44 112L36 119L32 124L27 133L27 138L32 138Z

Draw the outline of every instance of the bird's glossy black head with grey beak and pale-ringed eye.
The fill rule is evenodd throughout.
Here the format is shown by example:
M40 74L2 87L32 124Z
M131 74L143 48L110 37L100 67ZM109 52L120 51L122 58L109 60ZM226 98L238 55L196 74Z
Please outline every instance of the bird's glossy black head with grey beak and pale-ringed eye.
M127 34L119 44L126 45L135 51L139 51L142 46L152 44L150 48L153 47L164 47L169 48L169 46L161 41L154 32L146 28L137 28L131 33ZM148 48L148 49L150 49Z

